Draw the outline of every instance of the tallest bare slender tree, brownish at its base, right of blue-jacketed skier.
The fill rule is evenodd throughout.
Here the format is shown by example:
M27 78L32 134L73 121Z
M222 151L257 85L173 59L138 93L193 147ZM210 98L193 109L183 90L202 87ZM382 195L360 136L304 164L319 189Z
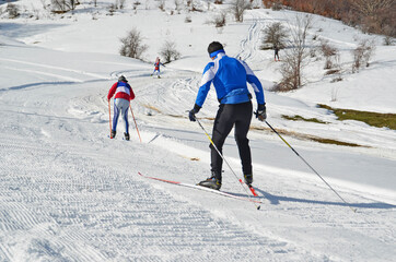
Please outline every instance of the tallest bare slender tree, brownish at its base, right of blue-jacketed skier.
M291 43L284 50L283 63L280 68L282 80L279 83L278 91L291 91L302 86L303 68L306 66L307 33L312 26L312 15L296 15L293 26L290 26Z

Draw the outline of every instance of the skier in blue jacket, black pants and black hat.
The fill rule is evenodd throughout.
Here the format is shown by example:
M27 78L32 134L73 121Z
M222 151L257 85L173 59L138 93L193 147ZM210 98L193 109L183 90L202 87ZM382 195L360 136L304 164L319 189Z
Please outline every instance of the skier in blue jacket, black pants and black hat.
M232 128L235 127L235 140L242 162L242 171L245 182L252 184L252 156L246 136L252 121L253 105L251 102L252 95L247 90L246 82L252 85L255 92L258 105L256 117L260 121L267 118L263 86L244 61L225 55L224 48L220 43L211 43L208 47L208 52L212 61L203 70L194 108L189 111L189 120L196 121L195 115L202 107L213 83L220 106L214 119L212 142L222 153L224 141ZM211 177L199 182L199 184L219 190L221 188L223 159L212 144L210 148Z

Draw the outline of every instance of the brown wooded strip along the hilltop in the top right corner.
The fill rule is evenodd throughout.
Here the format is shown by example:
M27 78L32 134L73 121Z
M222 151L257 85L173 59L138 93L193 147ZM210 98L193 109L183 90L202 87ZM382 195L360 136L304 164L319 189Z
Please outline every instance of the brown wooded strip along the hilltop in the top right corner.
M336 19L365 33L396 37L395 0L261 0L266 8L289 7Z

